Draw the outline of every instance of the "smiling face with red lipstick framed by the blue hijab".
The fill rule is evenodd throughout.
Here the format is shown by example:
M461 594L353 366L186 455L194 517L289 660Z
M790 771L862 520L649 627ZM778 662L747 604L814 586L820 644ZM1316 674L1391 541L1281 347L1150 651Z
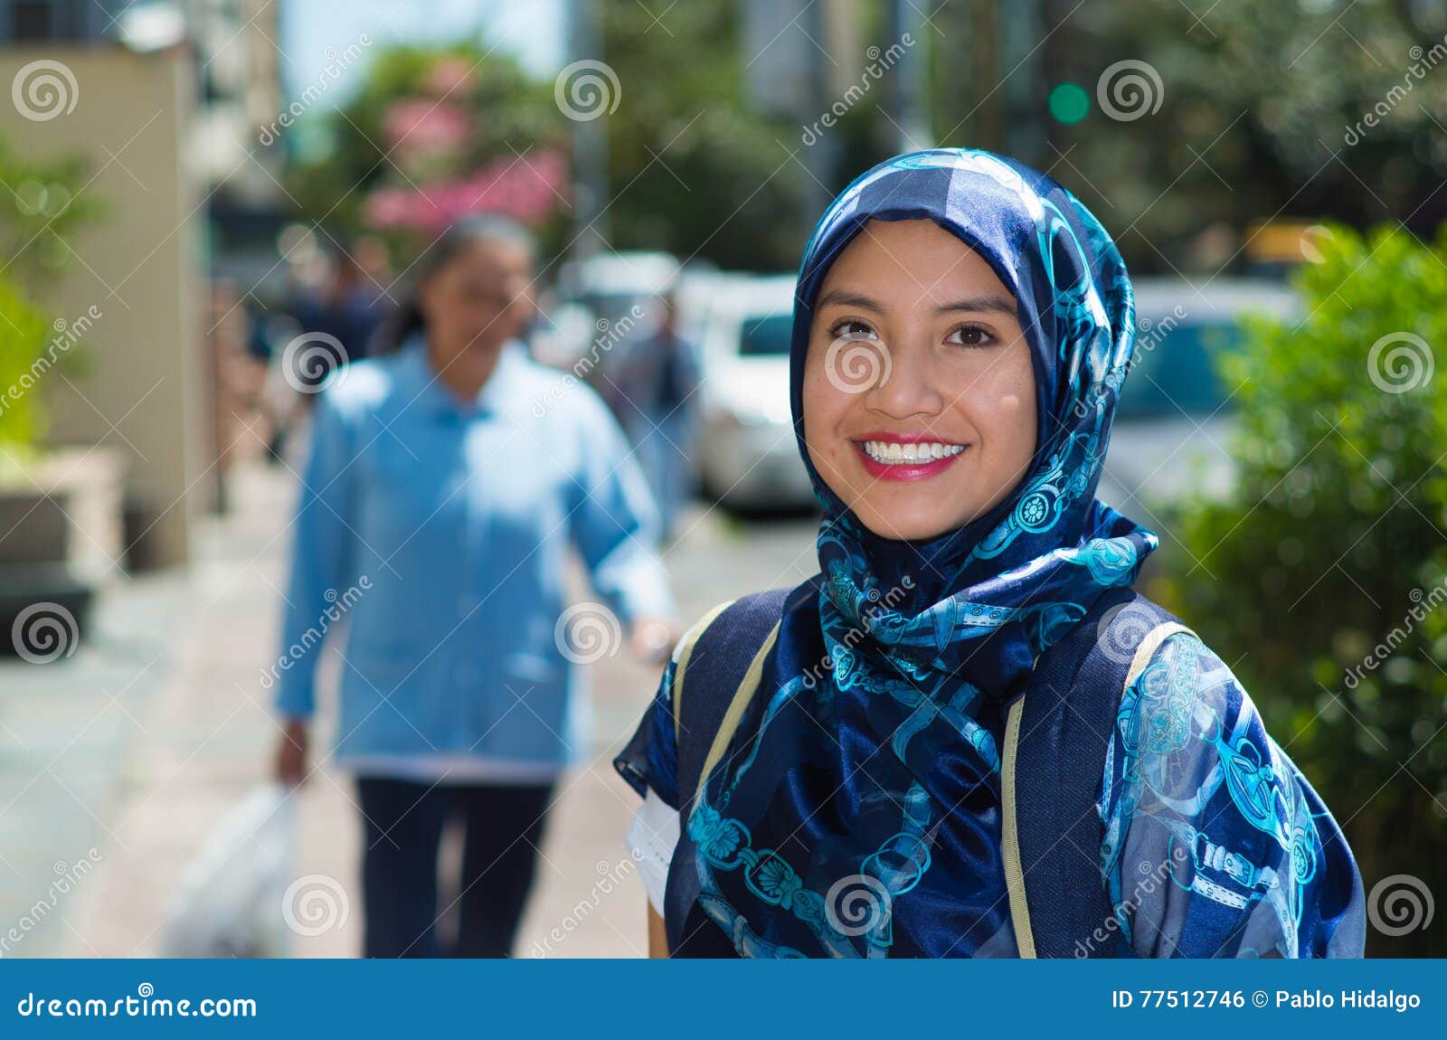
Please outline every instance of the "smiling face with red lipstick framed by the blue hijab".
M932 538L983 516L1035 456L1014 297L933 221L870 221L819 289L803 414L810 461L874 534Z

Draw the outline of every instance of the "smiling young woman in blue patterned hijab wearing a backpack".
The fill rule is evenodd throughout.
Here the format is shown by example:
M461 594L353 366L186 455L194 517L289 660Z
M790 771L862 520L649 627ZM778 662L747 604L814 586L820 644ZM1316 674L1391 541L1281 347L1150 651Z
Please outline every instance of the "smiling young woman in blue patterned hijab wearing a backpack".
M695 625L616 759L657 955L1360 955L1340 829L1095 499L1133 347L1036 171L833 201L792 341L820 573Z

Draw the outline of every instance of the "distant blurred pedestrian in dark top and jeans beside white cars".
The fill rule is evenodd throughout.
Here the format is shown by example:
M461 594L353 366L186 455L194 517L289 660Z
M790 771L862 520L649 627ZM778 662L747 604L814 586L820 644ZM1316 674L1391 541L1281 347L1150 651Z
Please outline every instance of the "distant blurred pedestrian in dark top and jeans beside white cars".
M622 418L648 477L663 519L663 537L669 540L679 506L693 487L700 379L693 344L679 334L679 307L673 294L661 298L657 328L625 346L609 379L614 411Z

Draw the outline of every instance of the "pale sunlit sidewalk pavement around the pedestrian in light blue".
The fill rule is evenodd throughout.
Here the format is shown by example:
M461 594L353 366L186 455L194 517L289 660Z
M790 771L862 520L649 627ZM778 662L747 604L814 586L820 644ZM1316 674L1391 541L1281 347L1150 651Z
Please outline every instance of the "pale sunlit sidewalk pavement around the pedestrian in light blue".
M156 952L181 872L265 780L278 739L260 677L276 660L292 495L285 469L240 466L234 511L201 525L188 573L120 581L97 610L98 636L64 664L0 665L0 936L29 921L0 956ZM666 554L682 616L803 580L813 527L739 528L695 506ZM323 668L334 673L336 658ZM621 845L637 797L611 759L655 684L657 668L627 649L593 665L592 758L560 784L518 956L644 955L642 882ZM321 754L327 729L323 713ZM295 936L292 953L356 956L350 778L324 767L295 797L298 877L330 878L347 914L321 934ZM77 879L56 892L62 877Z

